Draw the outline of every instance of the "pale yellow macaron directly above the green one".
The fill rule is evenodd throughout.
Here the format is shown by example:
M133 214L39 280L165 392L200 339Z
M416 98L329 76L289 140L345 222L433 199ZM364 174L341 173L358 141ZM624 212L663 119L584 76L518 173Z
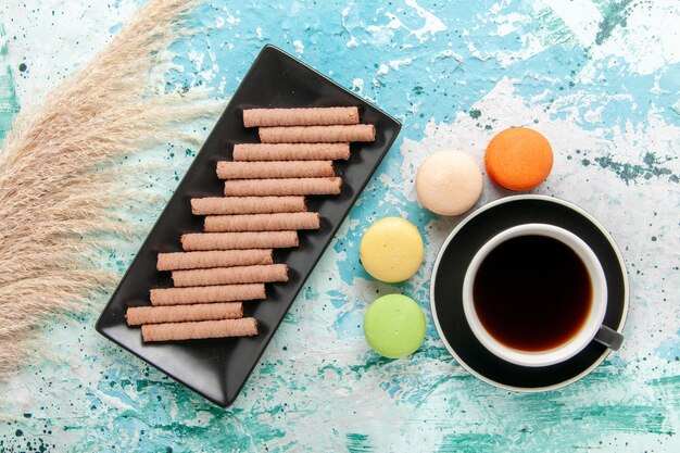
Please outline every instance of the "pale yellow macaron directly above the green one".
M369 226L358 252L366 272L390 284L413 277L423 263L424 253L418 228L400 217L385 217Z

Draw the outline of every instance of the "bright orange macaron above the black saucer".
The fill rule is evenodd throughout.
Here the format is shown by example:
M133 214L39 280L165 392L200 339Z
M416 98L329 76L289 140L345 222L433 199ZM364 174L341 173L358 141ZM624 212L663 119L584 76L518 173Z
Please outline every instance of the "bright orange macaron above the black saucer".
M491 180L501 187L533 189L553 168L553 149L536 130L513 127L491 139L484 153L484 167Z

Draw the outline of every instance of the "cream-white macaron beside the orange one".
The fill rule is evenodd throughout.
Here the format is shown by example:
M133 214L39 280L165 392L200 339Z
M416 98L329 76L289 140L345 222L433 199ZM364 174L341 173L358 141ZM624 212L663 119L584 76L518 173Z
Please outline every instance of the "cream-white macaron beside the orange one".
M479 164L466 152L439 151L418 168L416 192L428 210L440 215L459 215L481 196L482 174Z

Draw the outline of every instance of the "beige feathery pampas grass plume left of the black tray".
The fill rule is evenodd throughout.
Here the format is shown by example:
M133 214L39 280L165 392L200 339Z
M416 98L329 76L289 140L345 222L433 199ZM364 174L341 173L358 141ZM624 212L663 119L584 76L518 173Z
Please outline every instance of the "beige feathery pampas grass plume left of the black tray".
M216 112L206 93L167 93L152 77L186 33L191 3L149 1L86 67L16 116L0 150L0 379L36 356L47 317L87 310L112 289L116 276L88 256L100 234L121 229L112 209L136 196L114 162Z

